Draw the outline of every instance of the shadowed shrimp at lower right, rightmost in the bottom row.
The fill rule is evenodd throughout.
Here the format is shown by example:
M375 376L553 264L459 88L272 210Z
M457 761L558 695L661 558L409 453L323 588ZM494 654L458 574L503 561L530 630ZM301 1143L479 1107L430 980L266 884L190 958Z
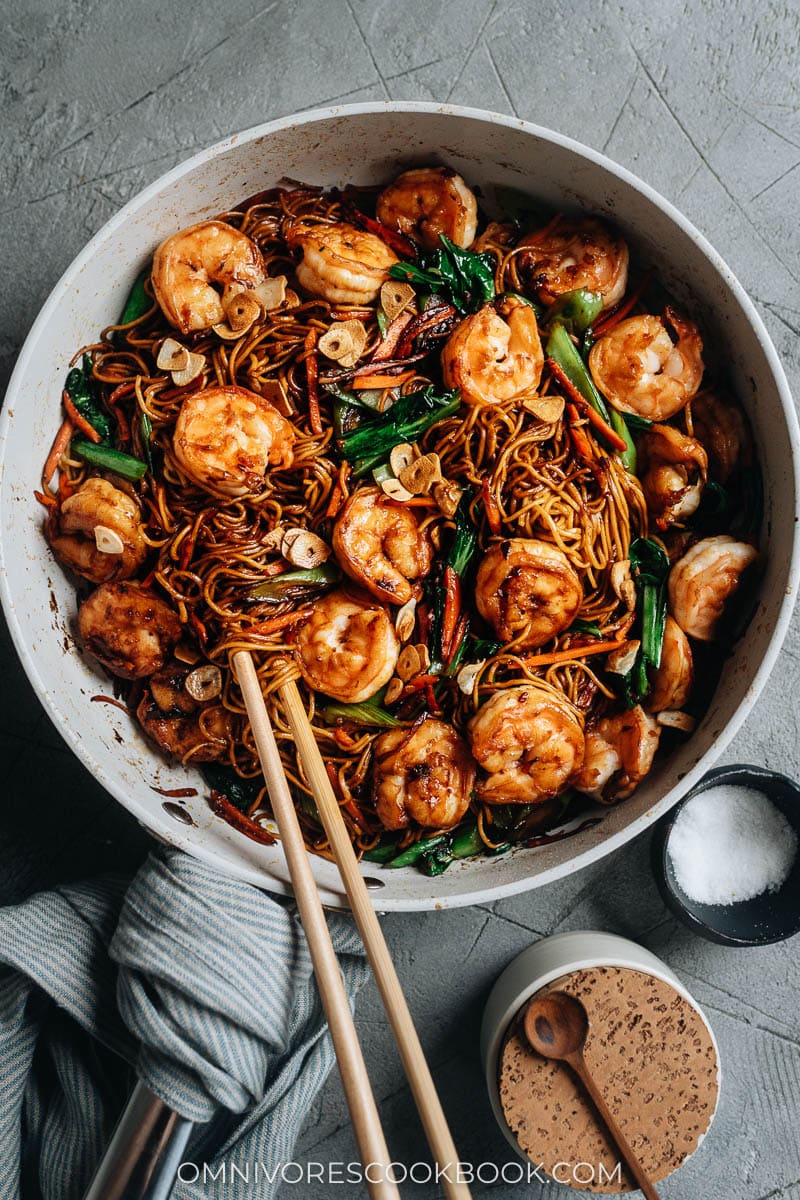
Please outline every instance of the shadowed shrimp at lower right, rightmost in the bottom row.
M638 704L590 721L585 758L570 782L601 804L627 799L652 767L660 737L656 719Z

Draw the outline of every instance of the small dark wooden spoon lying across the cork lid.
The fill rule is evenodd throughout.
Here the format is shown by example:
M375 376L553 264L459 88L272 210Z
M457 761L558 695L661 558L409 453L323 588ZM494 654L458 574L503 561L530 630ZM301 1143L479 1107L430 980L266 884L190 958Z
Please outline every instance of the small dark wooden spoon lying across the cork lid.
M589 1015L581 1001L565 991L547 991L542 996L534 996L525 1013L524 1030L528 1042L543 1058L557 1058L572 1067L600 1112L637 1187L642 1189L646 1200L658 1200L652 1181L636 1157L587 1067L583 1046L589 1032Z

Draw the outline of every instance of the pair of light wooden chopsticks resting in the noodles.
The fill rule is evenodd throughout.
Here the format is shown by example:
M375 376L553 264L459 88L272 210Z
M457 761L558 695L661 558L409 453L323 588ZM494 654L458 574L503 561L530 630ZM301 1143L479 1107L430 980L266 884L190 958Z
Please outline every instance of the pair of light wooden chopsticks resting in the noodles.
M344 995L338 964L327 934L325 916L317 893L308 854L302 840L302 833L283 772L283 764L275 742L275 734L266 712L255 667L247 650L236 652L233 655L233 665L253 728L253 737L272 800L272 811L285 851L297 907L308 937L314 971L317 972L320 995L323 996L325 1012L331 1025L331 1036L333 1037L333 1045L342 1072L342 1081L350 1106L350 1115L356 1139L359 1140L362 1162L365 1164L367 1162L387 1164L389 1151L383 1132L380 1130L380 1122L366 1074L361 1048L357 1043L357 1034ZM314 732L300 698L300 692L294 683L287 683L278 689L278 695L283 702L306 778L314 794L317 810L333 859L342 876L344 890L350 901L350 908L361 932L367 958L369 959L375 983L378 984L378 990L395 1034L428 1145L439 1166L439 1182L444 1195L447 1200L469 1200L470 1190L467 1183L458 1180L458 1152L447 1126L447 1118L439 1102L435 1085L416 1028L414 1027L414 1021L397 972L395 971L395 964L391 960L380 923L372 906L367 886L359 870L353 842L350 841L338 802L327 778L325 763L323 762ZM306 914L308 914L308 920ZM321 949L323 943L325 943L324 950ZM331 982L332 976L336 976L338 989ZM336 1032L331 1021L329 1003L337 1021ZM344 1012L341 1009L344 1009ZM342 1050L339 1050L339 1045ZM354 1091L357 1091L359 1094L353 1094ZM365 1158L365 1154L368 1157ZM393 1183L390 1183L389 1187L392 1190L374 1192L373 1186L369 1184L371 1194L381 1198L398 1194Z

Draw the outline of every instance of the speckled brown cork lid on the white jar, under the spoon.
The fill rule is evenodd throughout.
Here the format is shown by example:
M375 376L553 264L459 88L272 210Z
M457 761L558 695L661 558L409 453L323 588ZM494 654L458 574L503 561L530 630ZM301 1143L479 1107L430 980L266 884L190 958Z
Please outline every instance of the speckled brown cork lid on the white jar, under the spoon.
M542 991L554 989L583 1001L587 1066L650 1177L664 1178L697 1148L716 1108L717 1057L705 1021L668 983L642 971L590 967ZM560 1183L634 1190L581 1081L530 1048L525 1008L509 1026L498 1067L500 1103L521 1148Z

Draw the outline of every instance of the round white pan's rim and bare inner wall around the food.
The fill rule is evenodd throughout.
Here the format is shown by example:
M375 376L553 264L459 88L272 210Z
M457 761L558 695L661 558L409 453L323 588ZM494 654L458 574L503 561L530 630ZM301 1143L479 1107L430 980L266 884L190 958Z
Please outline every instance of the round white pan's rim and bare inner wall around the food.
M0 419L2 604L25 671L50 719L89 770L157 836L221 869L288 892L279 846L259 846L213 817L198 774L168 767L133 721L90 703L108 682L84 661L72 636L72 587L42 536L32 497L60 422L60 395L74 350L121 311L154 247L283 176L326 186L391 179L411 164L441 162L479 186L500 184L553 208L608 215L634 254L700 318L747 407L764 469L766 571L747 635L726 665L696 733L632 799L600 824L537 850L455 864L428 878L414 869L365 866L386 911L494 900L567 875L616 850L666 812L734 736L764 686L798 587L798 425L769 336L724 263L672 205L607 158L507 116L437 104L353 104L272 121L196 155L131 200L90 241L56 284L23 347ZM776 517L774 520L772 517ZM192 824L152 791L198 786L184 802ZM341 905L336 869L317 859L325 899Z

